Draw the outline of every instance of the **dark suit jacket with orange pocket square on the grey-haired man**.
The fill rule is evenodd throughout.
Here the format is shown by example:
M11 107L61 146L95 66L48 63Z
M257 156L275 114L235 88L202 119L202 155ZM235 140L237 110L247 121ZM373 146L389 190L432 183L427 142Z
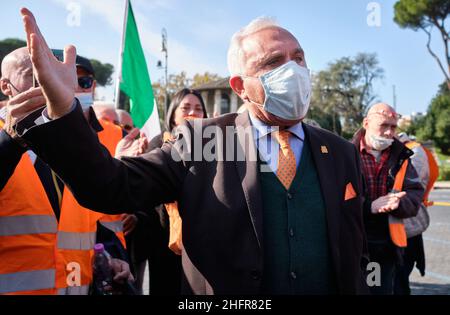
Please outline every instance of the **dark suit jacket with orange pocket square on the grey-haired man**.
M175 142L166 142L162 149L142 157L119 161L99 144L78 106L58 120L31 128L24 138L86 207L106 213L133 212L178 200L185 247L182 261L189 284L185 293L258 294L264 272L262 227L268 223L262 222L252 134L232 128L249 126L248 113L194 120L183 126ZM208 128L224 135L216 152L240 160L195 161L196 154L202 157L203 149L211 149L211 139L195 136ZM339 293L366 293L358 152L351 143L330 132L308 125L304 129L325 199ZM192 150L183 153L180 146L189 145ZM244 150L231 154L231 147ZM323 152L325 147L328 153ZM357 197L345 201L349 182Z

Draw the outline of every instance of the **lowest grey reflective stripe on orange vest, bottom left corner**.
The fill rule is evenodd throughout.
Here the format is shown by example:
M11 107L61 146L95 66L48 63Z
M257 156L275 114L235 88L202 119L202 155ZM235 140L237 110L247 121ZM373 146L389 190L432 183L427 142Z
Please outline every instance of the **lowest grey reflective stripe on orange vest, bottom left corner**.
M52 289L54 287L54 269L0 274L0 294Z

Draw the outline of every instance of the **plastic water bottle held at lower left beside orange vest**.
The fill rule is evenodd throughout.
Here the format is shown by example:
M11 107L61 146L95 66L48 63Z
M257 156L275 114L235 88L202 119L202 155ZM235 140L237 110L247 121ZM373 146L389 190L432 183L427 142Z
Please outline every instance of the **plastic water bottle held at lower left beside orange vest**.
M105 250L103 244L94 246L94 286L99 295L112 295L113 273L111 269L111 256Z

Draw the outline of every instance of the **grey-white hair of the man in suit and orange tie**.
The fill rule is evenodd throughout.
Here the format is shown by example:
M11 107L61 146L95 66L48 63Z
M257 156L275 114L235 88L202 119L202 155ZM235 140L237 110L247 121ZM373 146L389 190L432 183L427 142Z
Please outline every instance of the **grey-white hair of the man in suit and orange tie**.
M282 28L278 22L271 17L261 16L251 21L247 26L236 32L231 37L228 48L228 71L233 75L243 74L242 41L245 37L259 32L266 28Z

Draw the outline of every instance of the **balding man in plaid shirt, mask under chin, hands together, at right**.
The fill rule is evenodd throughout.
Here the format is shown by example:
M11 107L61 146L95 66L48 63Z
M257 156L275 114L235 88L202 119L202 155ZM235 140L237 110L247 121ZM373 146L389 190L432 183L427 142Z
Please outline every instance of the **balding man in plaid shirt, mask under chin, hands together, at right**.
M409 164L413 152L394 138L397 121L391 106L375 104L353 139L366 185L364 223L370 260L381 267L381 283L371 287L372 294L393 294L395 266L402 263L401 251L406 247L401 219L416 216L424 194L417 172Z

